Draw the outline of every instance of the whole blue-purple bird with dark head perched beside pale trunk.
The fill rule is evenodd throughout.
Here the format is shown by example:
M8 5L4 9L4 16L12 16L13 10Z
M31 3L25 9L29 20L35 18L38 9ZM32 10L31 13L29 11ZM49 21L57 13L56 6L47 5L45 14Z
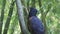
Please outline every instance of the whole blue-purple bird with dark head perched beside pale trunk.
M36 16L37 9L30 8L28 16L28 30L31 34L44 34L44 26L42 21Z

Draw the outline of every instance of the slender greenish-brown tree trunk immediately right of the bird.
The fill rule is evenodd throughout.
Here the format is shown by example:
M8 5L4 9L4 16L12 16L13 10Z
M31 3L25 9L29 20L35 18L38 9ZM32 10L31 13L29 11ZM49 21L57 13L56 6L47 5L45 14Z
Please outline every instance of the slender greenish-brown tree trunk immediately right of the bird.
M44 23L45 34L47 34L47 26L46 26L46 20L45 20L46 14L43 11L41 0L38 0L38 2L39 2L40 10L41 10L42 22Z

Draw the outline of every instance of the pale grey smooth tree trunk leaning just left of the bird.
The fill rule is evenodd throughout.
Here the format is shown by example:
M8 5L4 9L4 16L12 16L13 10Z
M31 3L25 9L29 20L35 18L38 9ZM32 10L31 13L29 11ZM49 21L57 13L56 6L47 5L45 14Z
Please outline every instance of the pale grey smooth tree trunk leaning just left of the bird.
M25 25L25 21L24 21L23 7L21 4L21 0L16 0L16 5L17 5L17 10L18 10L18 16L19 16L21 30L23 32L22 34L29 34L28 30L26 28L26 25Z

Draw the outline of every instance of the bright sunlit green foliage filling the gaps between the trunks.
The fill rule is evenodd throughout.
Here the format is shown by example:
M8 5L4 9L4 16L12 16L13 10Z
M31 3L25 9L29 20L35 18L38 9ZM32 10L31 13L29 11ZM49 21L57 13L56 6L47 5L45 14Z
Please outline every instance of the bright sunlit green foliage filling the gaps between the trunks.
M4 20L3 20L2 31L4 31L4 26L8 17L8 12L10 10L9 8L10 8L11 1L12 0L6 1L6 6L4 9ZM29 8L32 6L32 0L25 0L22 2L24 2L22 4L24 5L24 16L25 16L25 21L27 22L28 12L26 11L28 10L26 10L26 8ZM0 19L1 19L2 4L3 4L2 0L0 0ZM38 10L38 14L37 14L38 18L41 19L41 16L42 16L41 10L40 10L41 8L43 10L43 15L45 15L45 12L48 11L45 15L46 17L44 17L46 21L46 25L47 25L48 34L60 34L60 0L42 0L41 4L42 6L39 7L38 0L35 0L35 8ZM10 25L9 25L7 34L11 34L11 33L12 34L21 33L16 3L14 5L13 14L10 20Z

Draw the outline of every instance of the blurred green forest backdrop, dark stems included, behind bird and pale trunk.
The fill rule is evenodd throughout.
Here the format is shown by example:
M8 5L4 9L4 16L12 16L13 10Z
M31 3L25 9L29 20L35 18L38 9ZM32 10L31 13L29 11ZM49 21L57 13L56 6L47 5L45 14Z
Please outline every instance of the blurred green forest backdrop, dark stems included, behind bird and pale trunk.
M38 10L47 34L60 34L60 0L20 0L27 23L29 7ZM15 0L0 0L0 34L21 34ZM5 32L7 30L7 32ZM4 33L5 32L5 33Z

